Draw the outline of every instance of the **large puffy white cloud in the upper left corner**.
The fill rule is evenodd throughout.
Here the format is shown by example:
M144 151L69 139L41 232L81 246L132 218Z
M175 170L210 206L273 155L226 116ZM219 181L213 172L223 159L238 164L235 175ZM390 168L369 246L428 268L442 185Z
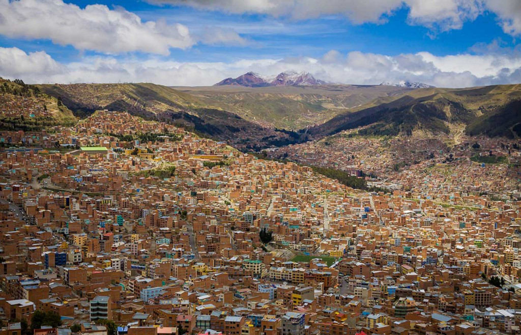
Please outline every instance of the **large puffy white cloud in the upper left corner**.
M62 0L0 0L0 34L10 38L49 39L59 45L103 53L142 51L168 55L195 41L187 27L165 20L141 21L122 8L80 8Z

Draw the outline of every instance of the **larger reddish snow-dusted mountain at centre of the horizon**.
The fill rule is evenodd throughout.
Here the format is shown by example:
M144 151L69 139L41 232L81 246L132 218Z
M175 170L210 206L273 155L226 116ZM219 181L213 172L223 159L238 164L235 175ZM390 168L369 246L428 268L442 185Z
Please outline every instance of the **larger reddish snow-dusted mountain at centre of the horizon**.
M244 73L237 78L226 78L215 84L220 85L241 85L248 87L263 86L300 86L300 85L323 85L327 84L324 80L315 79L308 72L286 71L277 76L262 76L255 72Z

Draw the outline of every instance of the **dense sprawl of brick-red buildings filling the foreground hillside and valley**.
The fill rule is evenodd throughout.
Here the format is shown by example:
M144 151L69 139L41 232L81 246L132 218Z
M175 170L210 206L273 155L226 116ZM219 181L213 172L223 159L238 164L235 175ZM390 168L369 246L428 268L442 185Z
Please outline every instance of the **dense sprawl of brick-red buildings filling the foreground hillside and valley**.
M96 334L519 331L521 201L469 182L500 165L366 192L107 110L0 142L6 334L37 311Z

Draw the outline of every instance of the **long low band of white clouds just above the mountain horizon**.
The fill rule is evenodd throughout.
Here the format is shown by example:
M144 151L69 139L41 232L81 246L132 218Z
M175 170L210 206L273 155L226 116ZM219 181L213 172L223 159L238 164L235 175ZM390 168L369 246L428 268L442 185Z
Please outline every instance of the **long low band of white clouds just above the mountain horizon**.
M247 71L275 75L308 71L319 79L344 84L419 81L438 87L468 87L518 82L521 56L511 54L435 56L427 52L388 56L330 51L320 58L242 59L231 63L145 61L111 56L86 57L63 64L45 52L0 48L2 76L28 83L154 82L163 85L212 85Z

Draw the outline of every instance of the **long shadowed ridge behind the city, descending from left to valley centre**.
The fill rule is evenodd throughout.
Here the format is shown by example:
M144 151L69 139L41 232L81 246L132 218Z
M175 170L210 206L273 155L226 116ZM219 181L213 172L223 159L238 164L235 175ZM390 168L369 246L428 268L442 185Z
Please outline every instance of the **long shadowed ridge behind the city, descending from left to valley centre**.
M289 141L287 132L266 129L229 111L199 101L167 86L133 84L39 85L63 101L78 116L95 110L128 111L145 119L176 123L246 149Z

